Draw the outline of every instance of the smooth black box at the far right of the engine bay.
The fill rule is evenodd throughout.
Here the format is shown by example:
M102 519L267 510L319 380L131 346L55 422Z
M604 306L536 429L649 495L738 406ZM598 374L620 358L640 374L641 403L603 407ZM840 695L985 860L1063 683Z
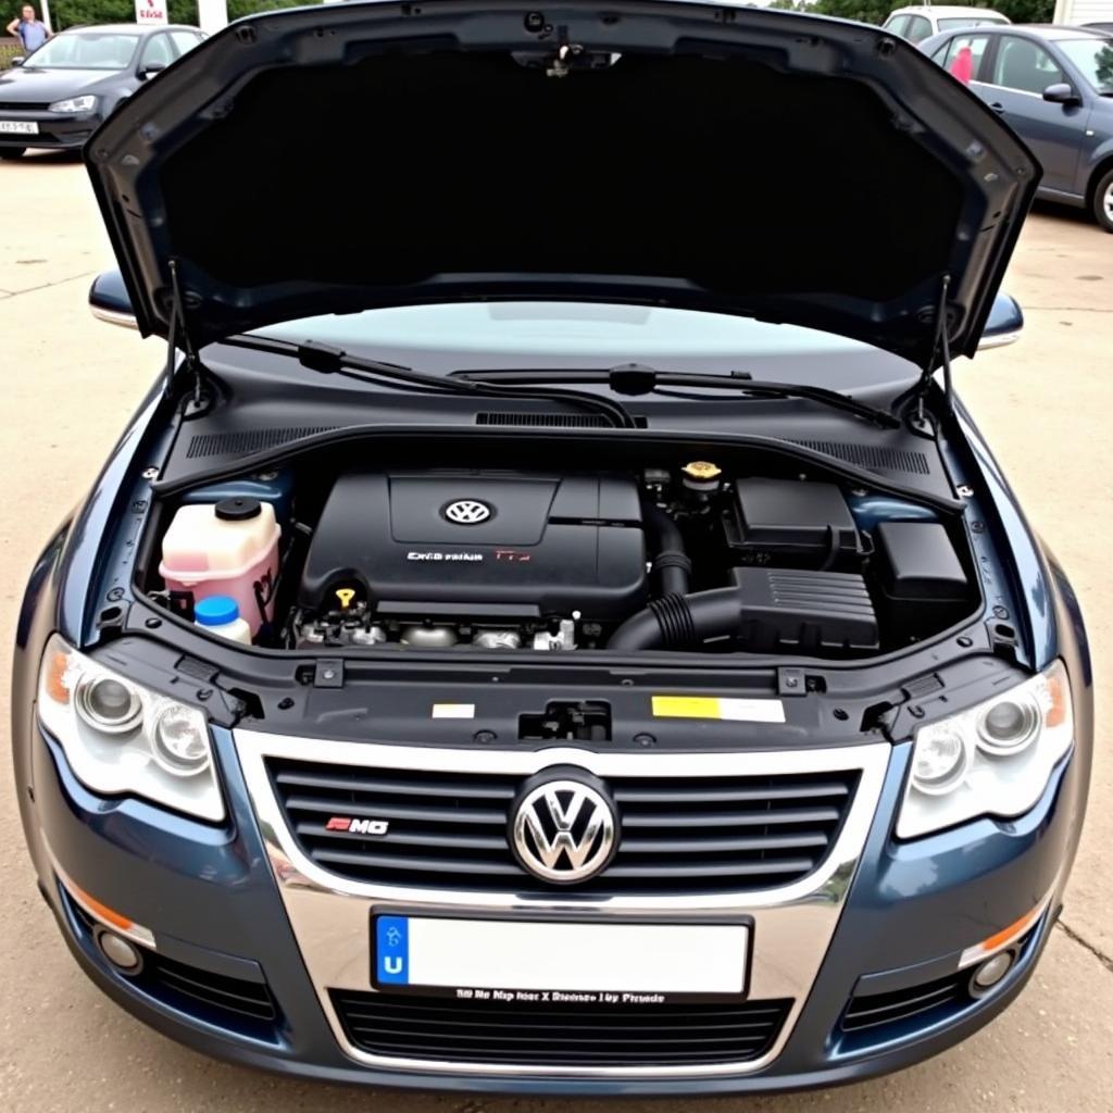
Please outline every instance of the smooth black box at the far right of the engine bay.
M881 522L874 530L877 577L890 599L957 603L966 574L938 522Z

